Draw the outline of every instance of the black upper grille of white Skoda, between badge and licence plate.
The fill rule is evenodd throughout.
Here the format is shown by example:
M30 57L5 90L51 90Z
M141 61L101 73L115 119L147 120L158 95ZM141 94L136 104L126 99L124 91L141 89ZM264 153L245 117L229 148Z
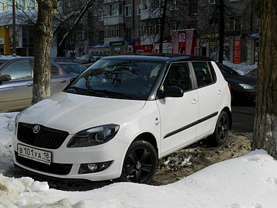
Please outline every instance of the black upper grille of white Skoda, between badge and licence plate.
M40 125L39 132L35 133L33 128L35 124L19 123L17 129L17 139L32 146L48 149L60 148L68 132L47 128Z

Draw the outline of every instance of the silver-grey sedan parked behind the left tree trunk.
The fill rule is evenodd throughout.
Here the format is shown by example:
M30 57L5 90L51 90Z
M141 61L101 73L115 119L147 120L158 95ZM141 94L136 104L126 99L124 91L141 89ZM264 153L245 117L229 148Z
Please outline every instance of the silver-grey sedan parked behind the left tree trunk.
M33 57L0 58L0 112L23 110L33 95ZM51 61L51 94L69 85L76 73L69 73Z

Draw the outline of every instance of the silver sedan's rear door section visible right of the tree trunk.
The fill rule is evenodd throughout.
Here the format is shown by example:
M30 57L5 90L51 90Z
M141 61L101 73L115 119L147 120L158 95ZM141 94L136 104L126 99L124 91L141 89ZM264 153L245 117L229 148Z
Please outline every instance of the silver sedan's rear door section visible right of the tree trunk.
M51 94L61 92L68 84L62 69L51 63Z

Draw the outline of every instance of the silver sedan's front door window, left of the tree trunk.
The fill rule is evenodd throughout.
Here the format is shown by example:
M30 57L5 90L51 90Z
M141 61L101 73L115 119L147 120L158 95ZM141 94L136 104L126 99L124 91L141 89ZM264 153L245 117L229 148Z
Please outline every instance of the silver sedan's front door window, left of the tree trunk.
M12 80L32 78L29 60L21 60L9 64L2 74L9 74Z

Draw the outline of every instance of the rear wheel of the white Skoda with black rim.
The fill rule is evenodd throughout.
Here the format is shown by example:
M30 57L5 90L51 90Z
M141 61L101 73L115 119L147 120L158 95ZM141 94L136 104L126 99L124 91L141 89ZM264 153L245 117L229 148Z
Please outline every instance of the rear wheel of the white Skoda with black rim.
M211 135L209 138L212 140L215 146L220 146L224 144L228 137L229 127L229 116L226 112L222 111L220 113L220 116L218 116L217 123L215 125L215 131L213 132L213 135Z

